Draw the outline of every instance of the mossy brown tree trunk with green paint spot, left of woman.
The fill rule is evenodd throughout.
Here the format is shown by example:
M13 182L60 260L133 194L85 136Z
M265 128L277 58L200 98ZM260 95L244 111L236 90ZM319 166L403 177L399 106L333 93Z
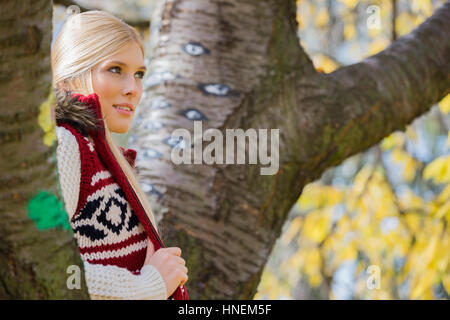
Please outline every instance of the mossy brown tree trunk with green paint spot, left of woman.
M0 11L0 299L87 298L84 284L67 285L68 267L82 266L73 235L39 230L28 216L58 194L56 136L43 130L51 113L41 105L51 89L52 2L3 0Z

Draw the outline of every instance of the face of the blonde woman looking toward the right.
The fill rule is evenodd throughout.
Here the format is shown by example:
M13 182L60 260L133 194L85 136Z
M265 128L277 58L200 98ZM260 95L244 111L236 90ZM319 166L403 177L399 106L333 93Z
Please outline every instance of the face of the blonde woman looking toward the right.
M128 131L141 100L145 71L142 51L135 42L92 68L92 86L111 132ZM131 111L119 110L117 105L128 105Z

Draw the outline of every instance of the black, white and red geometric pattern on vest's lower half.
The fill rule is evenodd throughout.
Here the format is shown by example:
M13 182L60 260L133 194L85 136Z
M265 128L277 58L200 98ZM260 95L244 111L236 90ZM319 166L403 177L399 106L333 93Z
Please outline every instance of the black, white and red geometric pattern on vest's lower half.
M139 273L147 248L144 228L108 171L91 179L92 193L71 221L82 258Z

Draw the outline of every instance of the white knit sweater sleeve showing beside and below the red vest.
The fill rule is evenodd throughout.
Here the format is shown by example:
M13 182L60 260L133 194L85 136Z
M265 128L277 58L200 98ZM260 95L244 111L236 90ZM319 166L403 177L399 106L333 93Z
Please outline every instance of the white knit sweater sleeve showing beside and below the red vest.
M78 205L81 160L78 142L63 127L56 127L59 182L69 221ZM167 299L166 285L159 271L144 265L139 275L114 265L83 261L86 284L92 299Z

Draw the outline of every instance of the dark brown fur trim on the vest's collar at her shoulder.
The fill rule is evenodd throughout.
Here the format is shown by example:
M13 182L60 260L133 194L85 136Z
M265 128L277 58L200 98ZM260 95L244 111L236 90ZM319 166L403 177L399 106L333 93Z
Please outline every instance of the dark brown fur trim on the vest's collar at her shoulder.
M72 91L67 89L54 89L55 119L56 123L68 123L88 135L91 130L100 128L95 110L72 97Z

